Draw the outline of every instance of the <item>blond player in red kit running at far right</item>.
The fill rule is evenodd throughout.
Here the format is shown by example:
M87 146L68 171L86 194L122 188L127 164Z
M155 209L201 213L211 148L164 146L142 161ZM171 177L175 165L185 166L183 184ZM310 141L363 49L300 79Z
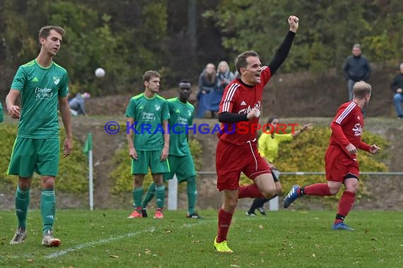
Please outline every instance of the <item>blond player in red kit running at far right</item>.
M293 186L290 193L284 198L283 203L284 207L287 208L303 195L336 195L339 193L341 185L344 184L344 192L341 195L339 209L332 225L334 230L354 231L344 224L344 218L349 214L358 190L357 149L371 154L378 153L380 149L376 145L368 145L361 140L364 126L361 109L368 105L371 86L360 81L354 85L353 91L354 99L339 107L337 115L330 124L332 136L325 154L327 183L316 183L303 188L298 185Z

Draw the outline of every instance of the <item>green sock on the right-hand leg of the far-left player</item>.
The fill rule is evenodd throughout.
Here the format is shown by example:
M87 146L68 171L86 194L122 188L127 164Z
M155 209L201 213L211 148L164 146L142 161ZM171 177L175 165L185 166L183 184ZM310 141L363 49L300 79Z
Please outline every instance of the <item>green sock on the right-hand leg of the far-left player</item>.
M54 214L56 212L56 195L54 189L42 189L42 198L40 199L40 214L42 214L42 231L49 231L53 227Z

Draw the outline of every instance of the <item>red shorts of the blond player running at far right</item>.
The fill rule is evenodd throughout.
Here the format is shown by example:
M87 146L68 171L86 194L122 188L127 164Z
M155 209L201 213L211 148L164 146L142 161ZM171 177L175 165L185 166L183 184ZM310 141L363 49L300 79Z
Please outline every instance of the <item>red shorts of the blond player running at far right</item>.
M352 159L339 146L330 145L325 154L326 180L343 183L349 176L359 178L360 169L356 159Z

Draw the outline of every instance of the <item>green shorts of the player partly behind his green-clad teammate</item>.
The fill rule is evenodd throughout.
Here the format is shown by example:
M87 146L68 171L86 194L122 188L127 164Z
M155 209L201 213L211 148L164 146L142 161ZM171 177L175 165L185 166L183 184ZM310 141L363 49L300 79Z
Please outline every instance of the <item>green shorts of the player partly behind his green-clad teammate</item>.
M187 178L196 176L192 155L170 155L168 157L170 172L164 173L164 181L168 181L176 174L177 182L186 181Z

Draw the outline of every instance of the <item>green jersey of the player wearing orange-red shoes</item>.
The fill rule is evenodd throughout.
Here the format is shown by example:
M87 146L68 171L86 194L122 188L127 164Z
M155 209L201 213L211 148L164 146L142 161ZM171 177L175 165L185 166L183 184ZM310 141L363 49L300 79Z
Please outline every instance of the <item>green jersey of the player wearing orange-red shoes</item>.
M168 104L163 97L156 95L148 99L144 93L134 96L125 116L134 118L134 149L155 151L163 148L163 121L170 118Z

